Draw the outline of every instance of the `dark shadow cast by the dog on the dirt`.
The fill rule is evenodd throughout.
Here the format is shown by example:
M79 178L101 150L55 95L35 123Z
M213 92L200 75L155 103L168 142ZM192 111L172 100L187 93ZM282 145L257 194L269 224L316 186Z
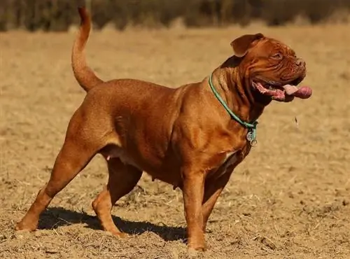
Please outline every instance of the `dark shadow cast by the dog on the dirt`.
M122 218L113 216L120 231L129 235L141 235L144 232L153 232L165 241L185 240L186 229L181 227L169 227L167 225L155 225L150 222L125 221ZM84 211L71 211L62 207L50 207L40 217L38 229L50 230L64 225L85 223L86 228L101 230L102 227L96 216L90 216Z

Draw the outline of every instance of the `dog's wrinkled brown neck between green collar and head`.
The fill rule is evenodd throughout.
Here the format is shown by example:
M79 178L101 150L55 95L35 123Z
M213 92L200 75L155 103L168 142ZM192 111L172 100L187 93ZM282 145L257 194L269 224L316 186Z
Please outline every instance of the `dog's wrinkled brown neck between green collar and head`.
M239 71L239 62L238 57L232 56L219 66L213 73L215 86L231 111L251 123L259 118L271 99L252 89L250 80Z

